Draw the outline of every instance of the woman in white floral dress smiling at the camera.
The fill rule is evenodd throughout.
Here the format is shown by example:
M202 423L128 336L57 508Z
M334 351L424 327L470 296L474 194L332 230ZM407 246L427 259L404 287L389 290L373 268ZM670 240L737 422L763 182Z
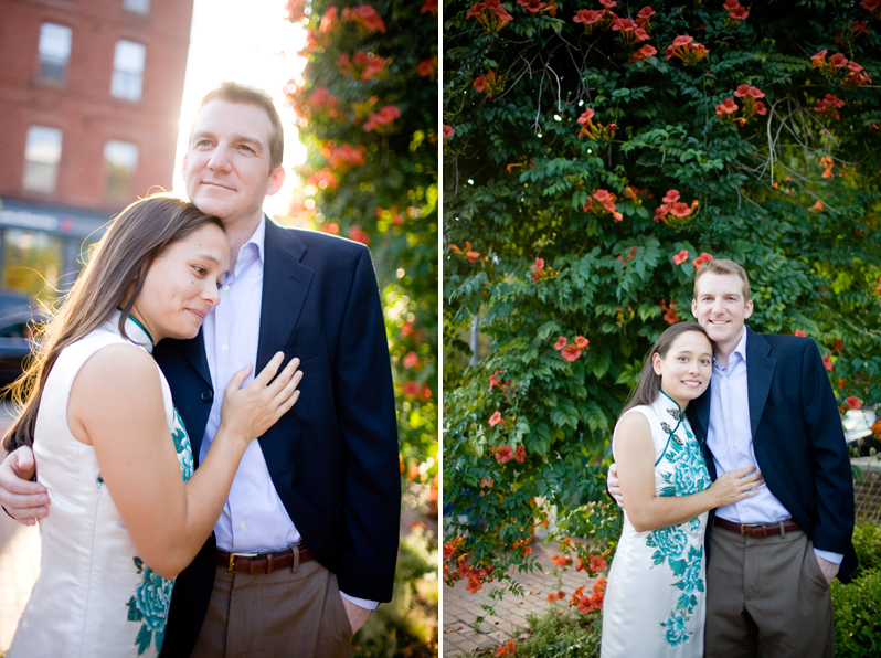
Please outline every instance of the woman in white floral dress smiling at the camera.
M711 482L686 407L712 374L697 322L669 327L649 351L612 439L624 529L603 607L603 658L703 656L703 533L709 510L755 496L761 474Z

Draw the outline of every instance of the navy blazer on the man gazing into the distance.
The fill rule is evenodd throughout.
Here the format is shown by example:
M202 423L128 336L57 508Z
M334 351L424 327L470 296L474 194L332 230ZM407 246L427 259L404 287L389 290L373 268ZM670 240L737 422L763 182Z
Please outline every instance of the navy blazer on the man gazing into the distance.
M256 371L300 359L294 408L259 437L282 502L312 555L352 596L391 601L401 513L397 424L370 253L266 221ZM214 391L202 332L155 357L199 458ZM162 657L189 656L214 582L213 534L174 585Z

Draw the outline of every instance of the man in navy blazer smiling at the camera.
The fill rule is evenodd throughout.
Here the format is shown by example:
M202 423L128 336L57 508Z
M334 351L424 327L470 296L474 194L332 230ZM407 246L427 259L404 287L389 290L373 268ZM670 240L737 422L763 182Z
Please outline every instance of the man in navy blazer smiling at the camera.
M691 310L714 342L713 375L687 415L710 474L761 470L756 496L714 510L707 537L704 656L831 657L829 583L857 560L853 482L841 420L809 338L745 327L746 272L713 259ZM609 491L618 496L609 475Z

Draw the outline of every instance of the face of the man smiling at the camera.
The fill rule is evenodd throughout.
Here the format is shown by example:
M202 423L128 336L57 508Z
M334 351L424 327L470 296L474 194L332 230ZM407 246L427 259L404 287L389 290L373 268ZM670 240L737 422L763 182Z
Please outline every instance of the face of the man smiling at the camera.
M753 315L752 300L744 303L743 280L736 274L708 272L698 279L698 298L691 314L723 352L736 347L743 322Z

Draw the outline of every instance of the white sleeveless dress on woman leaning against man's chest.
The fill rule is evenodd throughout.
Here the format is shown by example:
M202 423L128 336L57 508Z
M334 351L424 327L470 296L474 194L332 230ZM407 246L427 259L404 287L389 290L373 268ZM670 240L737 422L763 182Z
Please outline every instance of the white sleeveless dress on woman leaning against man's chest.
M138 558L100 475L95 449L67 427L67 401L86 360L119 335L120 312L65 348L50 372L36 417L38 479L52 500L40 520L40 576L8 658L156 656L162 646L174 581ZM152 352L149 333L129 317L126 333ZM157 367L158 370L158 367ZM169 441L184 481L193 471L190 439L160 371ZM97 401L99 403L99 401Z

